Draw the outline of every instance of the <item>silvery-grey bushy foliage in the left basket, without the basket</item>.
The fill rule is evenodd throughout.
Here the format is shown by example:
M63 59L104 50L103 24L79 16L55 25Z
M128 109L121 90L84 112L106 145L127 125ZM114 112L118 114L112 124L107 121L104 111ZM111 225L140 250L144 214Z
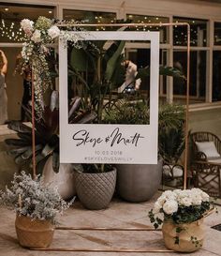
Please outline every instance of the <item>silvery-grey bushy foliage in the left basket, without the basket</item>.
M56 215L73 203L73 200L66 203L55 188L45 186L39 177L33 180L24 172L15 173L11 184L10 189L0 191L0 204L15 210L19 216L54 222Z

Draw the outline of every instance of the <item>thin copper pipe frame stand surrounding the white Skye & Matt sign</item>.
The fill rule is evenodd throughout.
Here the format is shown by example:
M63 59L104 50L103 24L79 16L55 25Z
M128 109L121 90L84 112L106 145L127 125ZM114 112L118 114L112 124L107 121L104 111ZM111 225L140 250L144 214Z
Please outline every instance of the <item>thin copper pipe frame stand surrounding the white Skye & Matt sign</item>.
M57 24L59 27L96 27L96 26L106 26L106 27L141 27L141 26L186 26L187 28L187 74L186 74L186 107L185 107L185 143L184 143L184 189L186 189L186 180L187 180L187 158L188 158L188 120L189 120L189 76L190 76L190 24L189 23L99 23L99 24ZM34 86L34 74L32 75L32 135L33 135L33 176L36 178L36 144L35 144L35 86ZM81 231L149 231L153 232L155 229L149 228L87 228L87 227L56 227L56 230L70 231L70 230L81 230ZM156 230L160 231L160 230ZM153 252L153 253L164 253L164 252L173 252L169 249L127 249L127 248L110 248L110 249L101 249L101 248L30 248L32 250L47 250L47 251L81 251L81 252Z

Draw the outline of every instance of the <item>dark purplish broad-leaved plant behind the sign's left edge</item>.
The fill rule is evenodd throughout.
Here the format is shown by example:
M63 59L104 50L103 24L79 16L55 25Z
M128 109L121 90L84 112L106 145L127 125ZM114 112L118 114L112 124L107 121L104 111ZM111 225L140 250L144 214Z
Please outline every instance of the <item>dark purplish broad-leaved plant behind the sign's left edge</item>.
M31 110L25 108L25 113L31 121ZM81 108L81 98L73 98L69 104L68 121L70 124L87 124L96 119L96 113ZM52 156L52 168L59 171L59 126L58 110L44 109L40 120L36 120L36 163L37 165ZM20 121L12 121L7 126L17 131L18 139L7 139L7 153L14 157L15 162L23 167L27 163L32 167L32 128ZM42 171L38 170L40 173Z

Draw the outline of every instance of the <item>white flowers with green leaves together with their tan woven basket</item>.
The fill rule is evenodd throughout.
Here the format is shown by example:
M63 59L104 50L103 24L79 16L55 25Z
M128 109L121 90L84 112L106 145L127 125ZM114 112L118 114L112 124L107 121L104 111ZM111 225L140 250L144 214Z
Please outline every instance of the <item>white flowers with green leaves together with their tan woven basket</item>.
M163 223L162 232L167 248L191 252L201 248L203 218L214 211L209 195L199 188L165 191L155 202L149 218L155 229Z

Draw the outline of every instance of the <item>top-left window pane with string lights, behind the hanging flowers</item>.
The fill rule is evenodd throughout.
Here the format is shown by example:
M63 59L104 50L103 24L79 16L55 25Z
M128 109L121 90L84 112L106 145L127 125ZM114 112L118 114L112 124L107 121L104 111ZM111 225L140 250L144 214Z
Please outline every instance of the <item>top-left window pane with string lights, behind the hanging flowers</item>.
M39 16L54 17L54 8L22 5L0 5L0 41L22 42L24 33L20 30L22 19L36 21Z

